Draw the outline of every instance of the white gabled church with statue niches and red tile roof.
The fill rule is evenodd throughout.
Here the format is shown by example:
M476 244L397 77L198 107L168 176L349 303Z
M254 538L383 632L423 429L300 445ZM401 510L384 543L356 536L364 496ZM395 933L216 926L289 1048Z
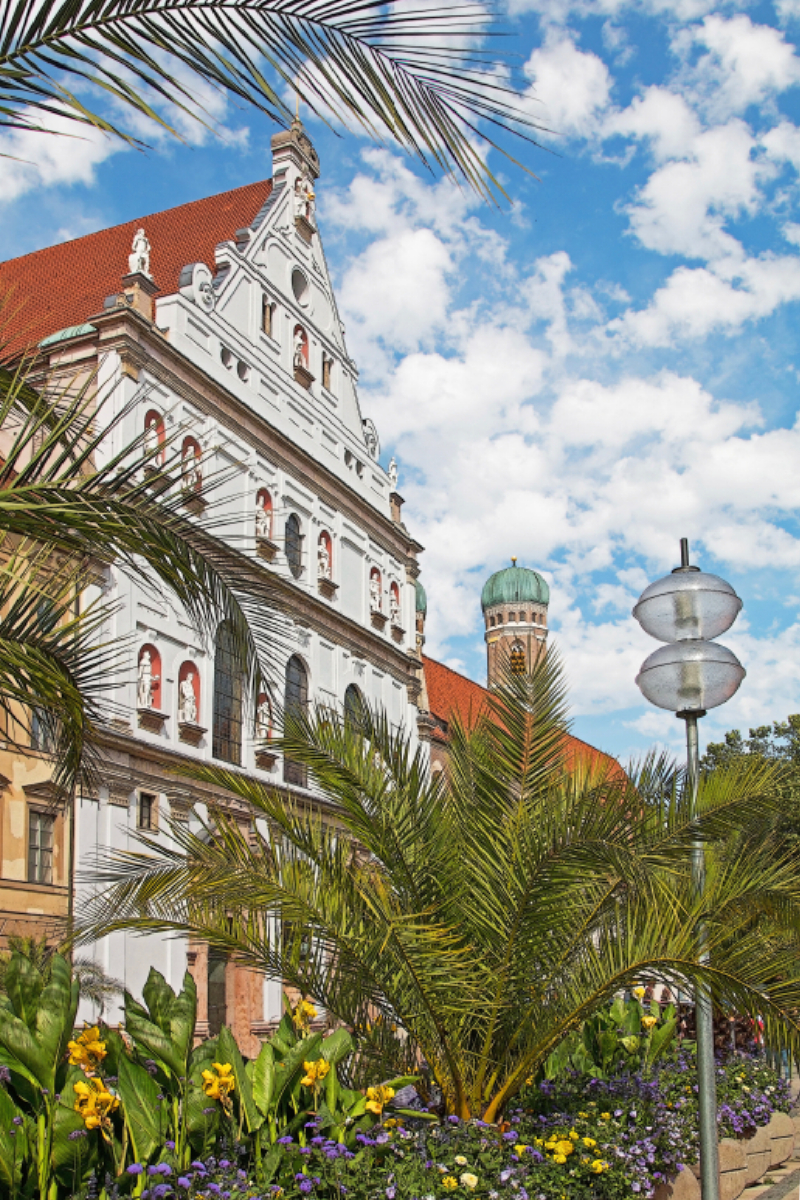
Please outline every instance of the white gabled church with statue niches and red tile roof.
M200 635L172 596L101 564L98 588L119 606L108 634L131 646L102 782L77 797L71 829L43 750L0 751L0 936L64 917L71 857L80 871L131 848L139 830L163 836L167 817L230 804L178 778L186 762L315 803L297 766L270 748L273 698L339 710L362 698L417 736L422 547L359 406L317 228L319 161L300 122L272 139L272 155L271 180L0 266L17 348L37 346L52 377L96 376L115 419L109 452L142 437L158 462L162 445L178 446L186 511L245 548L265 595L281 599L273 697L249 700L224 626ZM200 1032L224 1021L246 1050L281 1016L279 980L204 946L115 934L94 956L134 995L151 966L173 985L188 967ZM115 1021L119 1007L104 1015Z

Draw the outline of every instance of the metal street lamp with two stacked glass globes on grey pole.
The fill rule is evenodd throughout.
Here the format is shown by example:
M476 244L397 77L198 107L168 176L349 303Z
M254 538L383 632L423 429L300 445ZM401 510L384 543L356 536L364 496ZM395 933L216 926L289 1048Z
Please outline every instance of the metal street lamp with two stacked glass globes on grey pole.
M699 751L697 721L709 708L724 704L745 678L741 662L712 638L730 629L741 611L741 600L718 575L690 566L688 541L680 540L680 566L644 589L633 616L646 634L666 646L642 664L636 682L645 700L686 721L686 767L692 806L697 815ZM705 850L692 847L694 893L705 889ZM709 961L705 926L697 928L698 961ZM711 992L699 983L694 990L697 1020L697 1091L700 1118L700 1187L703 1200L720 1200L716 1079L714 1068L714 1019Z

